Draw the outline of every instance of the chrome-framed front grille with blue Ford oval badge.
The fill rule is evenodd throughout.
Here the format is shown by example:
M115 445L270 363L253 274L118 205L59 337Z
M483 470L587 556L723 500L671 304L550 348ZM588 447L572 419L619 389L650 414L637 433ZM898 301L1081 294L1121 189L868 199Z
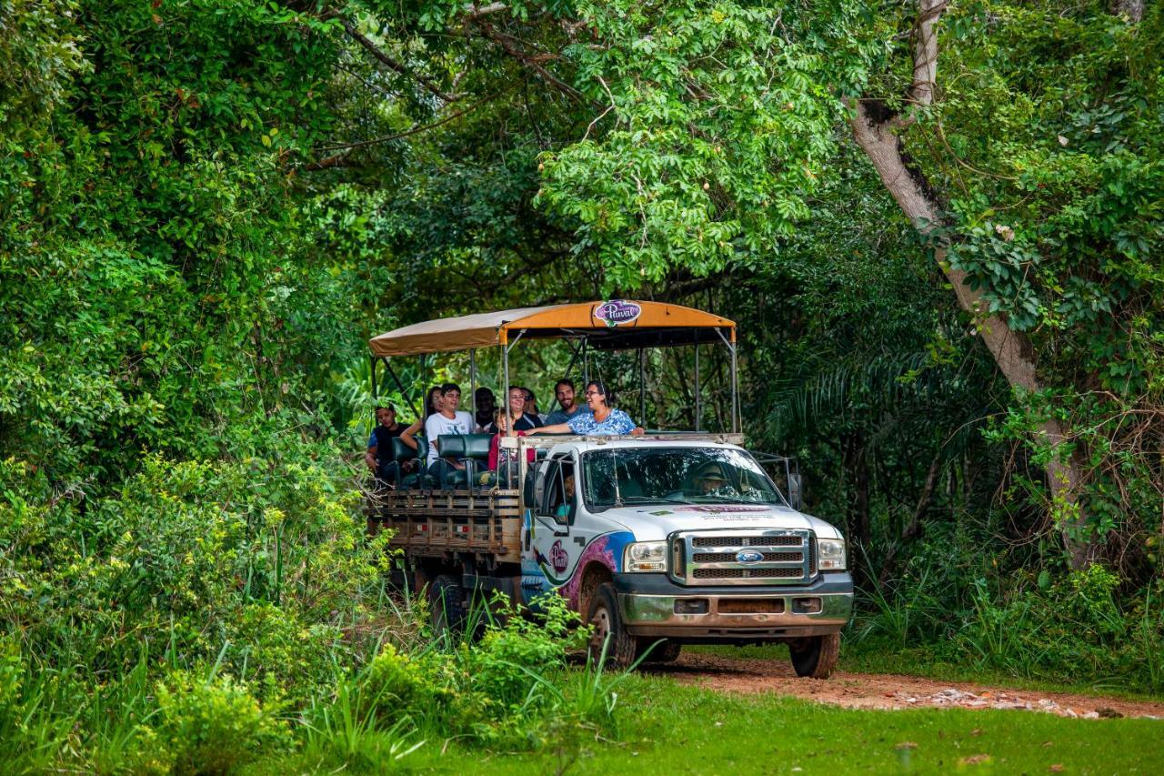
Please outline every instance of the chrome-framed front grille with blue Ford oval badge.
M670 536L670 576L681 585L807 583L816 577L816 537L800 529L680 531Z

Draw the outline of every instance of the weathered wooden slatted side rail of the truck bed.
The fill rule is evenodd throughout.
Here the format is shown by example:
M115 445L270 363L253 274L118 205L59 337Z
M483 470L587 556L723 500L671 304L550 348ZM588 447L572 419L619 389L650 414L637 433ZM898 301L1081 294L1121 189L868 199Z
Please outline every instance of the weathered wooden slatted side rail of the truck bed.
M389 546L411 556L490 552L499 560L521 557L517 491L383 491L370 494L371 530L392 529Z

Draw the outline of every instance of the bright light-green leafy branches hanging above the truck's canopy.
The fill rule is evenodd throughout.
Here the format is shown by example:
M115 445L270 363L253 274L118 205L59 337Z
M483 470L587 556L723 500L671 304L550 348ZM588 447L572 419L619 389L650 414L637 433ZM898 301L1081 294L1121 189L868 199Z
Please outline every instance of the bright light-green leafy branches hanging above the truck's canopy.
M818 10L579 5L603 45L567 52L602 113L547 154L540 199L580 221L608 288L658 282L676 266L755 266L808 219L833 150L833 96L852 87L830 57L867 54L847 35L857 6Z

